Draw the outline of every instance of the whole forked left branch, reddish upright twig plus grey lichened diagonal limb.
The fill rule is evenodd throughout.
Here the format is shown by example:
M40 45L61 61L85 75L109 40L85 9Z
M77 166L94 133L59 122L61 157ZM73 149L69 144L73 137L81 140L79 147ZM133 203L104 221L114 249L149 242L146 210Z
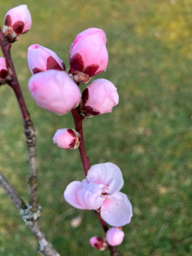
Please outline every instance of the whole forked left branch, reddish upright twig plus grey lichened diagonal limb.
M9 86L13 89L23 117L23 125L26 136L27 150L29 154L29 205L26 205L19 197L16 190L6 181L3 175L0 173L0 185L5 189L7 195L12 199L17 208L20 210L23 221L33 232L38 240L38 251L45 256L60 256L53 248L51 243L47 241L44 233L40 229L37 221L39 211L38 198L37 198L37 168L36 168L36 137L33 122L31 121L29 111L25 104L23 93L19 85L17 74L14 69L13 61L11 58L10 48L11 44L5 39L1 26L0 26L0 46L5 57L6 66L9 70L12 79L7 81ZM30 216L30 219L29 219Z

